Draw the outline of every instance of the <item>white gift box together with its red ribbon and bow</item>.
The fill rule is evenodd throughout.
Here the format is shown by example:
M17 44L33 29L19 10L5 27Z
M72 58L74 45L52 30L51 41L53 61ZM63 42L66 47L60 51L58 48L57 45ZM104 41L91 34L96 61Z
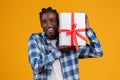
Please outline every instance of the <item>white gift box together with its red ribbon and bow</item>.
M85 13L60 13L59 22L59 46L86 45Z

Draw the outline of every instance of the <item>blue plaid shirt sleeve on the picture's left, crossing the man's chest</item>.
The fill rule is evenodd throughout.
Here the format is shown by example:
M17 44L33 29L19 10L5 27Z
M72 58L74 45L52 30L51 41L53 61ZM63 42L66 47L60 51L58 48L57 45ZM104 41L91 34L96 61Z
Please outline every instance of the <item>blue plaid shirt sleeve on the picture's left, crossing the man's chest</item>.
M33 69L34 74L42 73L45 68L50 66L55 59L61 56L61 52L59 50L54 50L50 54L45 55L44 46L42 42L38 46L35 35L31 35L28 42L28 53L29 53L29 62Z

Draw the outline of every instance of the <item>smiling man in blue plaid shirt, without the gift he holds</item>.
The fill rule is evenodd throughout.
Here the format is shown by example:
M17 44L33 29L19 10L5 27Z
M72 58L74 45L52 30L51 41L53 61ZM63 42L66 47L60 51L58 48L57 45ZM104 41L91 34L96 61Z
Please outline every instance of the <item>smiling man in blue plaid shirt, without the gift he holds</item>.
M90 45L75 47L59 46L59 19L56 10L43 8L40 12L43 33L29 38L29 61L34 80L79 80L78 58L101 57L102 48L86 17L86 35Z

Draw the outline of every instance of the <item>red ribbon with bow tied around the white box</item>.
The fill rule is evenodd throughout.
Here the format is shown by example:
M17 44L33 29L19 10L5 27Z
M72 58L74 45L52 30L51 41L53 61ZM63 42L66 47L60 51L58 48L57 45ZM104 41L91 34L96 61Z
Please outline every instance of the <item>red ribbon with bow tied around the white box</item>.
M71 35L71 46L74 46L74 44L75 44L76 50L78 51L78 42L77 42L76 35L86 42L87 42L87 38L78 33L78 32L84 32L86 29L75 29L76 26L77 26L77 24L74 23L74 13L71 13L71 30L60 29L59 32L66 32L66 34L68 36Z

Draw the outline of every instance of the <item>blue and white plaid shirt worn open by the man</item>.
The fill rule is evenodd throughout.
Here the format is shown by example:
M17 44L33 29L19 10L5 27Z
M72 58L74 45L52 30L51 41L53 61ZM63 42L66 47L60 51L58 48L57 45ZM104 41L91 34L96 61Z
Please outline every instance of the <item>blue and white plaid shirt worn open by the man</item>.
M45 33L32 34L29 38L29 61L34 73L34 80L47 80L51 76L51 66L59 59L64 80L80 80L78 72L78 59L101 57L102 48L92 29L86 32L90 45L80 46L79 50L71 50L61 53L57 42L57 49L51 47L51 43Z

